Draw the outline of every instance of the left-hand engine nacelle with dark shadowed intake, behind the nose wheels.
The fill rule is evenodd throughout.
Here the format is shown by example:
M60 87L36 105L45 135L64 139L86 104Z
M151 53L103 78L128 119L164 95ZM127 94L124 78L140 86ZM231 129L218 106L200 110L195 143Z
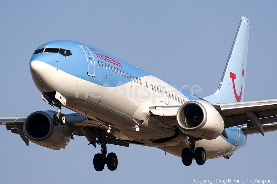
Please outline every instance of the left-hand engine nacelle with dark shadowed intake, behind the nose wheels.
M58 150L64 148L71 139L69 127L53 124L55 112L37 111L31 113L23 124L25 137L40 146Z

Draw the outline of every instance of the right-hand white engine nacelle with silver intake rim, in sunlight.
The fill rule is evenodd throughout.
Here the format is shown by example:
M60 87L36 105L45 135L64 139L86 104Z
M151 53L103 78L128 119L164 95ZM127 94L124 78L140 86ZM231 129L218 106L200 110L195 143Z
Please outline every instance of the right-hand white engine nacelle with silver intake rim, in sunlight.
M206 101L189 101L177 112L177 125L189 136L215 139L224 130L224 121L219 112Z

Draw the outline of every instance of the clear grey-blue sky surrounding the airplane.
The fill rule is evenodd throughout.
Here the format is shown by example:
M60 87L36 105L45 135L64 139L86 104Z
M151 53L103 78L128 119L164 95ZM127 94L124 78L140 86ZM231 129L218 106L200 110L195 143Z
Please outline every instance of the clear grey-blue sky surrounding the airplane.
M51 40L92 45L178 86L219 85L240 18L251 20L245 101L277 98L276 1L2 1L0 116L56 110L41 99L29 72L34 50ZM69 110L62 109L64 113ZM0 183L194 183L194 179L275 179L276 132L248 136L231 159L183 166L157 148L108 146L118 168L93 168L100 147L74 136L55 151L0 126Z

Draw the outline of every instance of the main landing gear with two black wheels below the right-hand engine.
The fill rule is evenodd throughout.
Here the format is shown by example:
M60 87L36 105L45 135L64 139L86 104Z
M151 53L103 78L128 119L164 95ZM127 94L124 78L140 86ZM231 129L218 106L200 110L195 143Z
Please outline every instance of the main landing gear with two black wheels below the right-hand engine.
M192 159L195 158L195 161L198 165L203 165L206 162L206 151L203 147L197 147L195 149L195 138L189 137L190 148L183 148L182 150L182 162L185 166L190 166Z

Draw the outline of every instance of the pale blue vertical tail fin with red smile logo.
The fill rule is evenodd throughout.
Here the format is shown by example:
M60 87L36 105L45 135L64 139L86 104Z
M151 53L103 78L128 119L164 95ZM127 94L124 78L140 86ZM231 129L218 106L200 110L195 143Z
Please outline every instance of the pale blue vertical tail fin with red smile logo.
M241 17L219 87L215 94L204 98L208 102L243 102L249 25L249 19Z

